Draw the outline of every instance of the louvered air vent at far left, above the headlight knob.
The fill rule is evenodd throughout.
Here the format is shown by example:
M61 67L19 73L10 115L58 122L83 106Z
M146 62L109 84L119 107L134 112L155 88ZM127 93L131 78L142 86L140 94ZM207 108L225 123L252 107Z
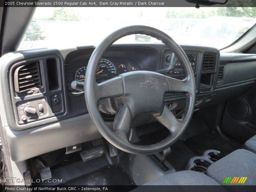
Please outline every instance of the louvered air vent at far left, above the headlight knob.
M15 92L25 92L38 87L41 87L39 62L28 63L15 69Z

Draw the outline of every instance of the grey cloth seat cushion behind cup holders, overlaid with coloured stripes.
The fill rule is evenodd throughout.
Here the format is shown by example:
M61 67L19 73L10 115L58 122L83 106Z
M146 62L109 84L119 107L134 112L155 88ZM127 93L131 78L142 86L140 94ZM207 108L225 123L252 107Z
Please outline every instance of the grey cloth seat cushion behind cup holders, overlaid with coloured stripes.
M233 177L239 177L236 185L256 185L256 154L238 149L210 165L206 174L221 185L232 185ZM224 182L226 177L231 177L229 183ZM243 184L241 177L247 177Z

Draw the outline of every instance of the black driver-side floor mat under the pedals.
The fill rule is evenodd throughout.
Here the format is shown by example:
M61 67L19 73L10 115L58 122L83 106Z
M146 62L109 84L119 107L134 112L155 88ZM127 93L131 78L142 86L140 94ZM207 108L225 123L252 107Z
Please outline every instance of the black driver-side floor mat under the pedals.
M56 179L57 182L42 181L34 185L135 185L119 158L120 156L110 158L108 153L104 153L102 156L83 162L79 152L72 153L60 164L51 168L51 179ZM37 174L33 179L40 178Z

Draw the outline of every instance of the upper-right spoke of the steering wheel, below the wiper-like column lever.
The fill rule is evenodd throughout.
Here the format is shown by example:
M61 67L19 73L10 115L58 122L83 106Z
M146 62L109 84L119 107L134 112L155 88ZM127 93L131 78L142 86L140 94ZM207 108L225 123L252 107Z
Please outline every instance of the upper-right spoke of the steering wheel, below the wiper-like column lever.
M194 91L193 86L191 86L191 83L187 78L184 80L179 80L166 76L166 79L169 84L170 92L192 93Z

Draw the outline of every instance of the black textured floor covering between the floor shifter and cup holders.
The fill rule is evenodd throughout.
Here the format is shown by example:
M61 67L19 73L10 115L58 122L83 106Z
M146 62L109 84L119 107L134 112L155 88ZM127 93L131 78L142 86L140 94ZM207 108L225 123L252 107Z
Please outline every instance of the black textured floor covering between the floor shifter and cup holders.
M174 167L176 171L185 170L188 160L196 156L181 140L178 140L171 146L172 153L167 157L167 161Z

